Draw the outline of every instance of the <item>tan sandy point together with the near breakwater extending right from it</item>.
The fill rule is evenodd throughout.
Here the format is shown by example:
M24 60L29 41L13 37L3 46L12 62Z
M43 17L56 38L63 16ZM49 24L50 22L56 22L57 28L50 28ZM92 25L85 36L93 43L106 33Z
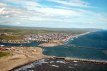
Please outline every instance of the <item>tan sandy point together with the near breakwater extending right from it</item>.
M107 63L106 60L92 60L92 59L82 59L82 58L72 58L72 57L57 57L57 56L47 56L43 54L43 49L41 47L13 47L12 49L24 50L24 54L21 51L14 53L11 56L6 56L0 58L0 71L11 71L15 68L27 65L34 61L38 61L44 58L54 58L54 59L64 59L64 60L73 60L81 62L94 62L94 63ZM27 51L27 52L26 52ZM32 53L32 52L33 53ZM28 55L27 55L28 54Z

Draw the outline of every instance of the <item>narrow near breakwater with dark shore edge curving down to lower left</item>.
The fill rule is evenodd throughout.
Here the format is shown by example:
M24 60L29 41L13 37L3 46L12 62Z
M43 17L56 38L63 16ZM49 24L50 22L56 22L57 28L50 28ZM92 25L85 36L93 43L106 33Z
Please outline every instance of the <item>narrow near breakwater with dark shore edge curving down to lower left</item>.
M74 62L92 62L92 63L101 63L101 64L107 64L107 61L106 60L92 60L92 59L82 59L82 58L72 58L72 57L57 57L57 56L46 56L44 58L41 58L41 59L64 59L64 60L70 60L70 61L74 61ZM38 60L41 60L41 59L38 59ZM35 61L38 61L38 60L35 60ZM32 61L32 62L28 62L26 64L23 64L23 65L20 65L20 66L17 66L9 71L13 71L17 68L20 68L22 66L25 66L25 65L28 65L30 63L33 63L35 61Z

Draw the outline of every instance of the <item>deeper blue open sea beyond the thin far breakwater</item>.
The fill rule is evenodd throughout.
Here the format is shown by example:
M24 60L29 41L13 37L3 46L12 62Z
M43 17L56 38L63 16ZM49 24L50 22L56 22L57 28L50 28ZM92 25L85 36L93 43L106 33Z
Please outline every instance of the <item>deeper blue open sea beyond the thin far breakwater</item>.
M69 40L68 44L74 44L81 47L90 47L97 49L107 49L107 30L92 32L73 40Z

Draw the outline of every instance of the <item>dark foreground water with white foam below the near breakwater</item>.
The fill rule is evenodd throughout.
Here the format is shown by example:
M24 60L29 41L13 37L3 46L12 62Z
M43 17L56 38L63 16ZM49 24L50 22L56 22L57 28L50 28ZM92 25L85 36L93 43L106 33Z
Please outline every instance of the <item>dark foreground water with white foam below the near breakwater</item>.
M14 68L11 71L106 71L106 66L107 63L65 60L63 58L43 58Z

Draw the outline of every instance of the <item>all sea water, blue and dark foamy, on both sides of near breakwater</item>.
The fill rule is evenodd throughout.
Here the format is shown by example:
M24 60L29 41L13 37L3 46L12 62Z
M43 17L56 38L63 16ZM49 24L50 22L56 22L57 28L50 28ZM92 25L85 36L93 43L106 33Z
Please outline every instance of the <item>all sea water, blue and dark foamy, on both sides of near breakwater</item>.
M71 38L64 45L43 47L43 54L107 61L107 31L96 31ZM44 58L11 71L107 71L107 63Z

